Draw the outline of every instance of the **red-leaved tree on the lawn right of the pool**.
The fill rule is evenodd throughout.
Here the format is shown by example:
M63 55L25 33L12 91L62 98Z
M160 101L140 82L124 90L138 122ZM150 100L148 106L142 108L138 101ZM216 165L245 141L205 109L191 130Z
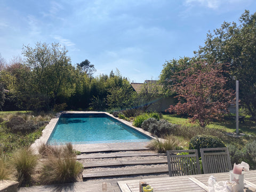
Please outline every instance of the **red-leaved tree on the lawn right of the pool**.
M179 102L167 111L187 114L191 123L202 127L221 119L234 99L234 91L225 89L227 79L221 66L197 62L174 75L171 81L175 82L173 89Z

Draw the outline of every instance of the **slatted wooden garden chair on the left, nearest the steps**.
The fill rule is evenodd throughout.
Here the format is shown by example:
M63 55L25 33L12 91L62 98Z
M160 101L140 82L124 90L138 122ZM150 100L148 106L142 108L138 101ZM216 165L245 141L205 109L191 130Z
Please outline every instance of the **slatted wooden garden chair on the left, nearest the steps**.
M168 150L167 163L170 177L201 174L198 152L190 150Z

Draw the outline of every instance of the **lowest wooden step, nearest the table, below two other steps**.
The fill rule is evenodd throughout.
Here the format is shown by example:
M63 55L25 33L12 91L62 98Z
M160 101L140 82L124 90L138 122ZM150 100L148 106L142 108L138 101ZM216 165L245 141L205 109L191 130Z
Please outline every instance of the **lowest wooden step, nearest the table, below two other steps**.
M83 179L89 178L101 178L101 177L117 177L127 175L142 175L150 173L168 173L168 166L162 168L150 168L150 169L130 169L130 170L115 170L115 171L97 171L97 172L86 172L83 171Z

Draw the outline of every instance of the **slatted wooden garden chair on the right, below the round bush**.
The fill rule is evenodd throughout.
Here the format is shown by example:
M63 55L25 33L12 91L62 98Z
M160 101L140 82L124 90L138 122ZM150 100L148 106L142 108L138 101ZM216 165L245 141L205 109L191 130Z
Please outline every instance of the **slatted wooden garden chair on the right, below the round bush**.
M232 170L227 147L200 149L204 173L222 173Z

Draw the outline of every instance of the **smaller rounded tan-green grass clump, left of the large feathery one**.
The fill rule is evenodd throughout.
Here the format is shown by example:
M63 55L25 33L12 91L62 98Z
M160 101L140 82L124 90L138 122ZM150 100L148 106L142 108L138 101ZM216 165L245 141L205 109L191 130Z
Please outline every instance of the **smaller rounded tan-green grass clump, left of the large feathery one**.
M31 174L37 164L37 156L30 148L22 148L13 155L12 164L17 171L17 178L20 185L23 182L29 183Z

